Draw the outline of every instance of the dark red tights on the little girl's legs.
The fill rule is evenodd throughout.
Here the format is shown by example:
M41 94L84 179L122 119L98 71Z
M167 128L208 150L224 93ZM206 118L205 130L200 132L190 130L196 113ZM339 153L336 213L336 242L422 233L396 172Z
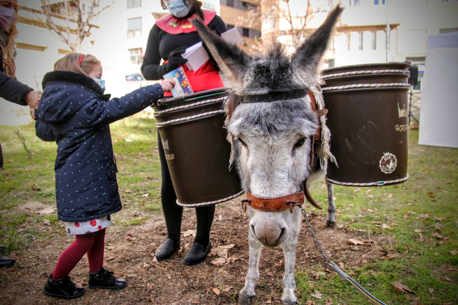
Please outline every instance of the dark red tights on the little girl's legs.
M87 253L89 271L97 272L104 265L105 229L94 233L75 235L75 241L59 257L52 278L68 276L76 264Z

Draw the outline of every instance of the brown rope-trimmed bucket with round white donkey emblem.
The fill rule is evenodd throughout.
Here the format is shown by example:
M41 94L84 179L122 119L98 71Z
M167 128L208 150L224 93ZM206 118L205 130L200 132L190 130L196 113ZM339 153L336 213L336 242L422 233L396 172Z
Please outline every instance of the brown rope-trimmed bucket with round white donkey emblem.
M407 173L409 63L323 71L331 153L327 181L347 186L402 183Z

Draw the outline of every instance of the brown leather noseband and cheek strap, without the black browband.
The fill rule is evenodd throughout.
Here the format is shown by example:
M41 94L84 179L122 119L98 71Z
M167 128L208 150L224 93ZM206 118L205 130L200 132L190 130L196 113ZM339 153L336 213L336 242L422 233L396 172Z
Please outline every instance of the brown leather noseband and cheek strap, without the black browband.
M327 113L327 109L323 108L316 112L318 117L321 117ZM310 149L310 170L313 166L313 146L315 144L315 135L311 137L311 149ZM294 193L286 196L281 197L272 197L272 198L262 198L256 197L250 192L246 192L246 199L241 200L242 202L242 210L246 211L246 206L249 205L253 209L262 210L262 211L279 211L283 209L288 209L291 213L294 211L294 207L298 205L302 205L307 199L308 202L311 203L315 208L322 209L318 203L313 199L310 194L309 187L307 184L307 178L305 178L304 182L302 182L302 189L303 191L300 193Z

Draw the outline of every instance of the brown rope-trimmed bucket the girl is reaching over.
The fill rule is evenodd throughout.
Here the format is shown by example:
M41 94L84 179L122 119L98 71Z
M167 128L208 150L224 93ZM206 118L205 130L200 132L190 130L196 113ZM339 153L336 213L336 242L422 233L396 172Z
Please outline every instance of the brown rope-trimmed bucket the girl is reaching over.
M180 206L220 203L243 193L235 169L229 171L231 147L223 128L227 97L219 88L152 106Z

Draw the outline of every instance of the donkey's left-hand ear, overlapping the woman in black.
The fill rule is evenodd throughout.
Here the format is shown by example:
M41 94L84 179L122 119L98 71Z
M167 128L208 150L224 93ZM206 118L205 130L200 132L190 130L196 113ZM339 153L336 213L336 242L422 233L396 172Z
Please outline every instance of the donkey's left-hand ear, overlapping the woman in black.
M234 43L228 43L221 36L216 35L203 24L200 17L196 17L191 22L212 53L225 78L230 82L241 80L253 61L251 55L243 52Z

